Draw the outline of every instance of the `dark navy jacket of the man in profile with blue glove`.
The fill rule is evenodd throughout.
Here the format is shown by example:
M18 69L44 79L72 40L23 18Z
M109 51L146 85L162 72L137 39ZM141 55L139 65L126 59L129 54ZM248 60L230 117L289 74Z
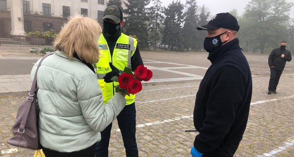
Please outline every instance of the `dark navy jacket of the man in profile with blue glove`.
M225 145L238 147L252 95L251 72L238 38L208 59L212 65L200 82L194 108L194 126L199 131L194 146L200 153L227 149Z

